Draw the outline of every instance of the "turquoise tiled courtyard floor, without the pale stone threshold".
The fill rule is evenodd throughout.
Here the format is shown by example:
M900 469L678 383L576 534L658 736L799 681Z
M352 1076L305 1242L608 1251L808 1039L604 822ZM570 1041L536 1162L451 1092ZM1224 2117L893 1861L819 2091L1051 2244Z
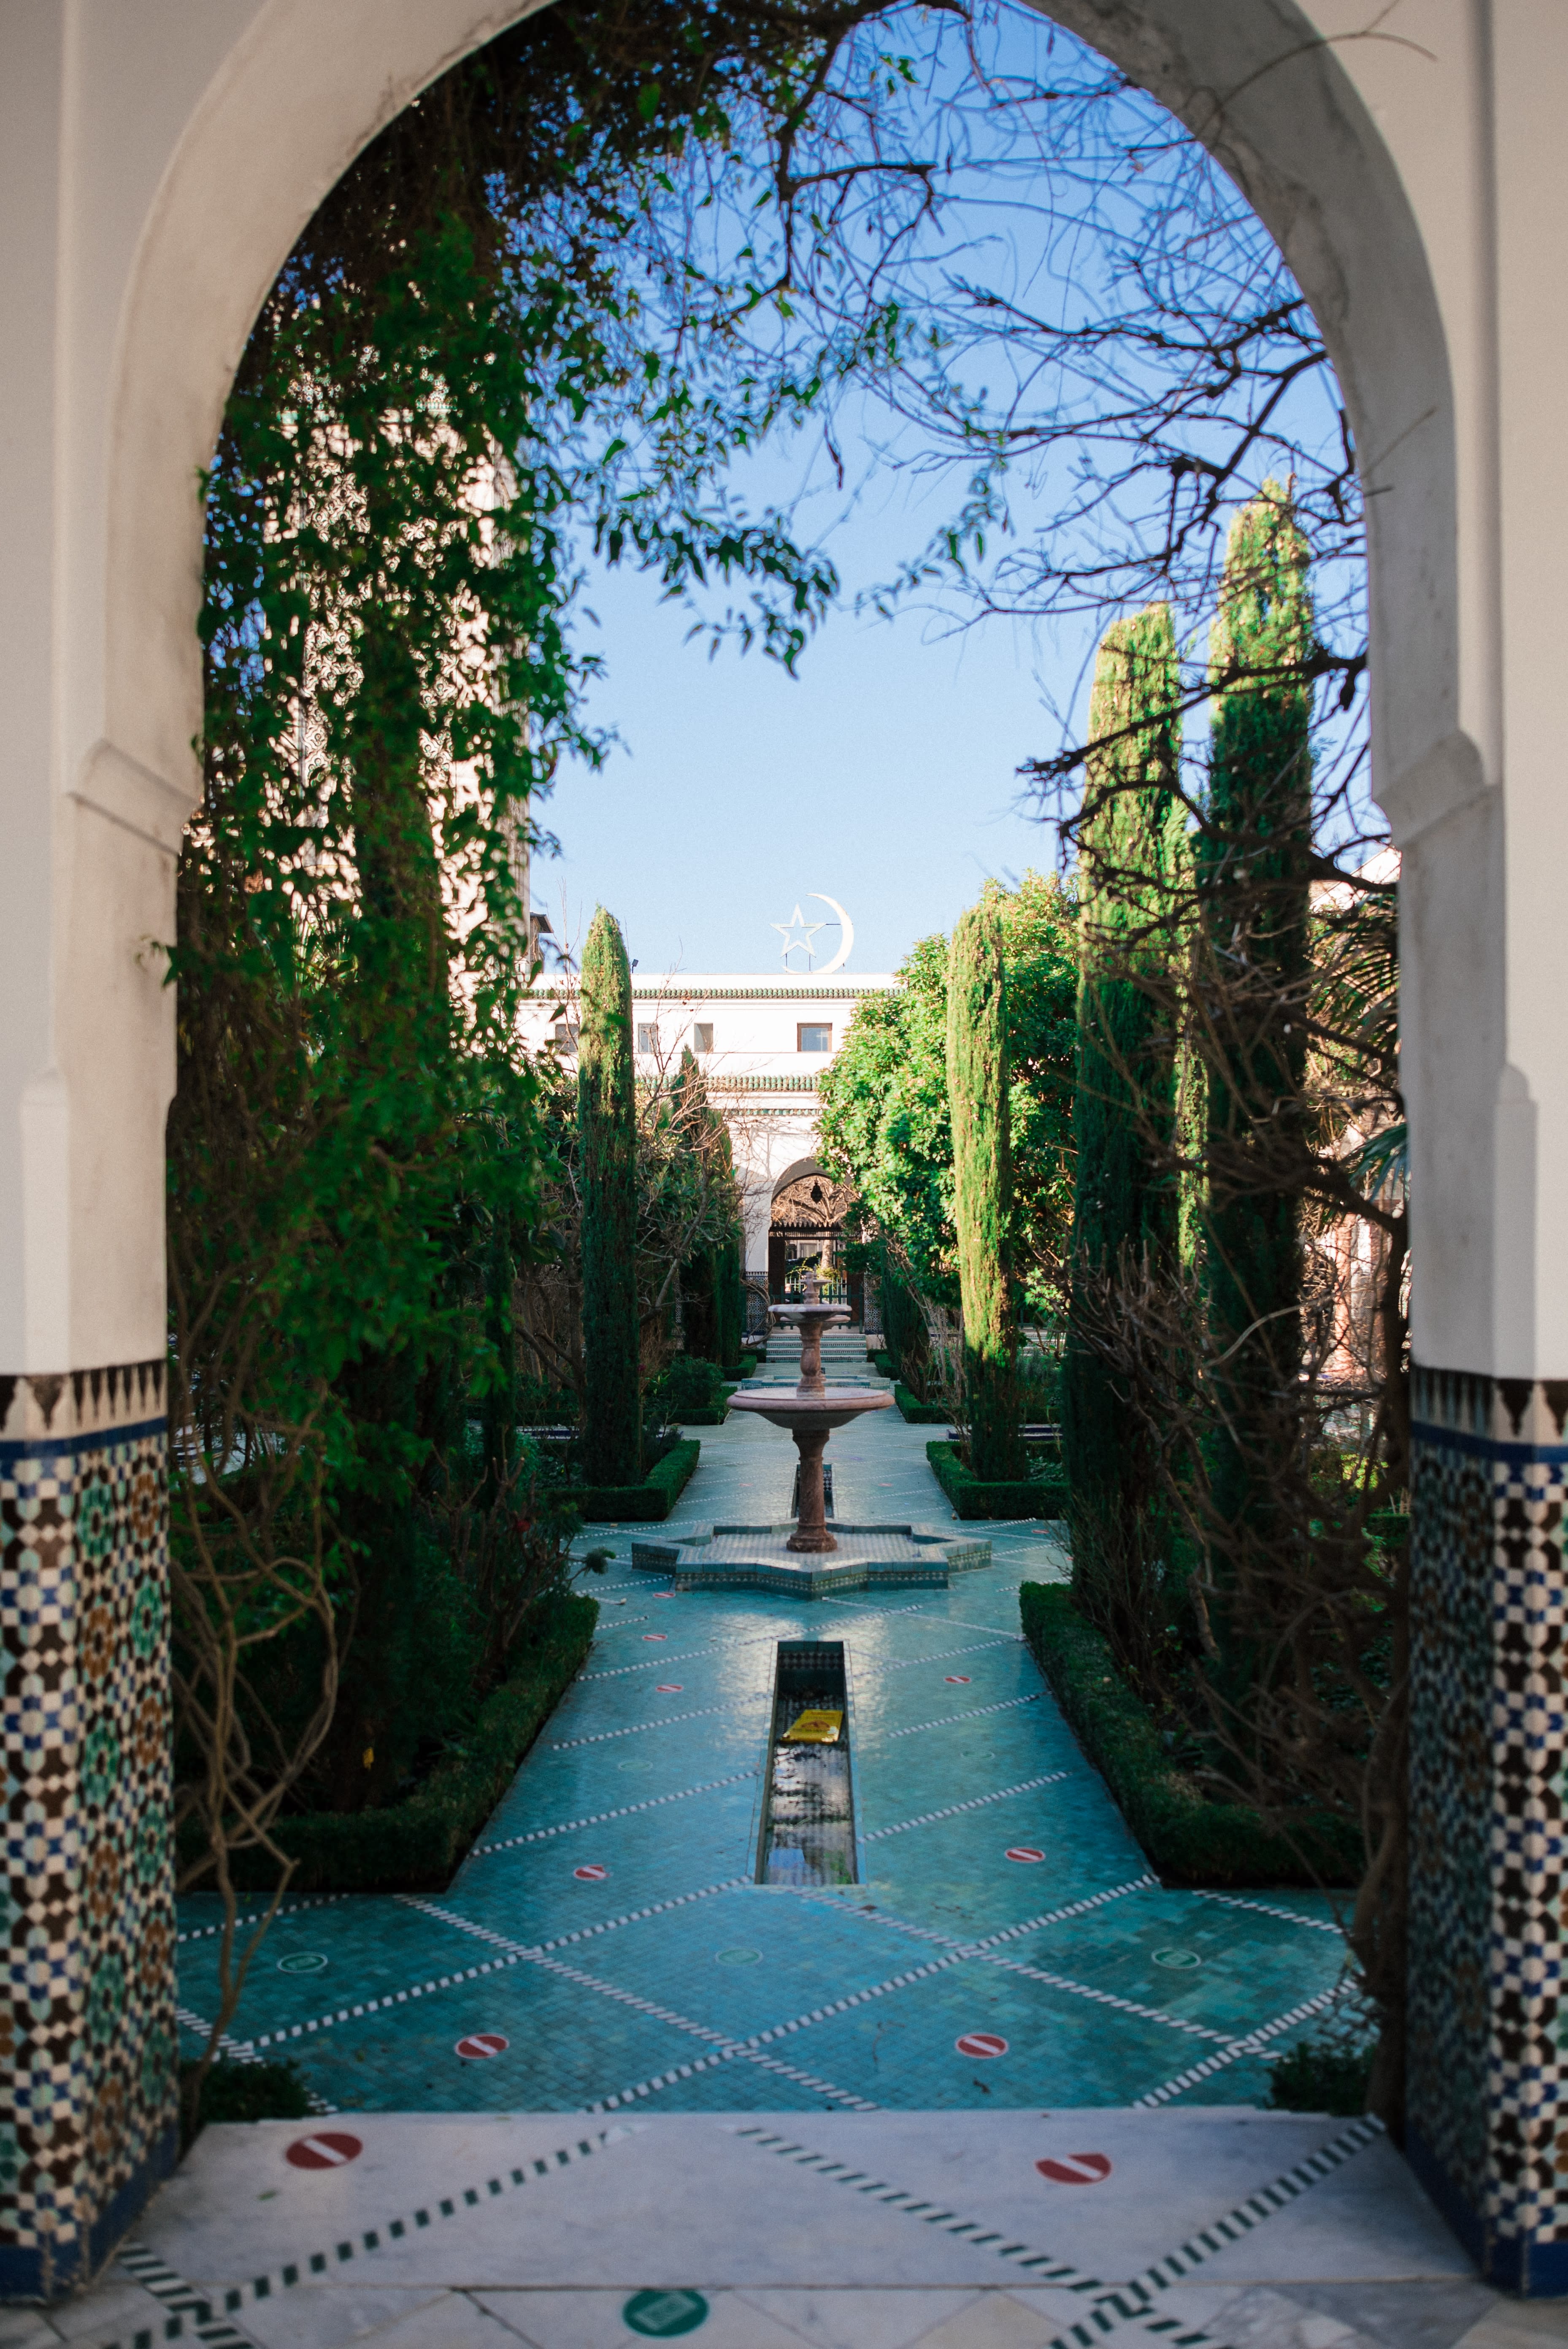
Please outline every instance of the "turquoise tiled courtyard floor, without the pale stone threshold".
M840 1431L838 1515L951 1522L927 1435ZM782 1517L791 1468L765 1423L709 1428L676 1525ZM1045 1532L998 1529L948 1590L815 1604L671 1595L629 1529L584 1536L617 1553L594 1654L458 1879L291 1907L235 2037L343 2112L1263 2102L1333 1992L1331 1905L1155 1884L1019 1640L1019 1581L1066 1571ZM838 1893L749 1882L800 1635L850 1656L864 1882ZM192 2015L207 1924L190 1903ZM976 2032L1005 2053L965 2053ZM474 2034L507 2046L458 2055Z

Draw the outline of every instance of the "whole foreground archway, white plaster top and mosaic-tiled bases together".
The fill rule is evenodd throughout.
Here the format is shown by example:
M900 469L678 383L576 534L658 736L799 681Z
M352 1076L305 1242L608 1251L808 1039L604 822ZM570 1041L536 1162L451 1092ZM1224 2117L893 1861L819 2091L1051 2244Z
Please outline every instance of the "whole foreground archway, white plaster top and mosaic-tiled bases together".
M169 935L195 801L195 484L249 322L319 195L425 82L521 14L507 0L150 0L12 12L0 31L16 352L0 456L7 1891L14 1978L49 1983L19 2004L9 2055L31 2147L0 2189L12 2293L89 2269L174 2149L155 1736L167 1628L141 1602L162 1543L171 1003L146 942ZM1568 2262L1552 1828L1568 803L1552 637L1530 630L1533 615L1549 630L1568 484L1533 406L1561 362L1561 305L1516 294L1514 261L1528 289L1561 268L1549 103L1568 26L1552 0L1523 0L1493 52L1481 14L1460 31L1437 0L1411 0L1397 33L1343 23L1331 0L1054 0L1052 14L1246 190L1319 315L1361 451L1376 787L1406 850L1427 1365L1411 2109L1425 2173L1469 2239L1500 2274L1549 2288L1552 2257ZM1535 453L1528 474L1505 449ZM82 1569L89 1515L99 1581ZM103 1670L89 1665L99 1604ZM92 1865L115 1900L94 1905Z

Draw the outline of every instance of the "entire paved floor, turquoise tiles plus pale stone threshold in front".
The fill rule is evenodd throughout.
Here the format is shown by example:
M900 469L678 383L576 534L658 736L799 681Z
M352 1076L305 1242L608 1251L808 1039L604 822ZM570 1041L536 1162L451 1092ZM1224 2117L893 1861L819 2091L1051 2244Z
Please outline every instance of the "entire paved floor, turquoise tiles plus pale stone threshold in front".
M951 1522L927 1433L836 1435L838 1515ZM786 1513L784 1435L702 1445L678 1525ZM671 1595L603 1539L589 1668L453 1886L300 1900L265 1945L235 2034L322 2119L207 2131L110 2279L0 2311L0 2349L1568 2340L1469 2279L1373 2126L1251 2109L1333 1994L1329 1903L1155 1884L1019 1640L1019 1581L1066 1571L1042 1527L807 1607ZM751 1882L803 1633L850 1654L838 1893Z

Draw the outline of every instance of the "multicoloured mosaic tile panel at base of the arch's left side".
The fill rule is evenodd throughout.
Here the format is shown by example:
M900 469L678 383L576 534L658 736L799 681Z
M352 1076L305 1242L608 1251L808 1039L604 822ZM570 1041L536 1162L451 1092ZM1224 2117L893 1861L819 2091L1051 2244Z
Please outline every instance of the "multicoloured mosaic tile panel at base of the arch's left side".
M0 2297L101 2262L176 2152L164 1367L0 1379Z

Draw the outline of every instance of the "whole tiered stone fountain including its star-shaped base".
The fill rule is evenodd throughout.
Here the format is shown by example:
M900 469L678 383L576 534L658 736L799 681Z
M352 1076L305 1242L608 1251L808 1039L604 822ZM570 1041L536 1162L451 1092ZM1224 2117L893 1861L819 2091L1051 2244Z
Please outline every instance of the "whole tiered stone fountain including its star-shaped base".
M634 1539L631 1564L674 1576L676 1590L751 1588L793 1590L826 1597L869 1583L946 1586L951 1574L991 1564L991 1543L969 1541L939 1525L836 1525L826 1522L822 1454L833 1428L866 1412L885 1412L885 1386L829 1386L822 1377L822 1332L847 1322L843 1306L822 1301L815 1273L803 1280L798 1306L772 1306L777 1322L800 1332L800 1384L793 1395L777 1388L744 1388L730 1398L732 1412L789 1428L800 1454L798 1517L784 1525L695 1525L688 1534Z

